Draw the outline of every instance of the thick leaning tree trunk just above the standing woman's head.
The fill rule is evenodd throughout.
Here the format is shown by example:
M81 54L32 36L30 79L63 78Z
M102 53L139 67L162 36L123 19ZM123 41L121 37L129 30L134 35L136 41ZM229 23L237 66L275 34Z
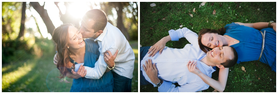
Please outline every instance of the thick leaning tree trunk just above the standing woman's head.
M51 19L49 18L47 10L44 9L44 5L40 6L38 2L30 2L30 3L33 6L33 8L40 14L40 17L43 19L47 32L52 35L55 26L53 25Z

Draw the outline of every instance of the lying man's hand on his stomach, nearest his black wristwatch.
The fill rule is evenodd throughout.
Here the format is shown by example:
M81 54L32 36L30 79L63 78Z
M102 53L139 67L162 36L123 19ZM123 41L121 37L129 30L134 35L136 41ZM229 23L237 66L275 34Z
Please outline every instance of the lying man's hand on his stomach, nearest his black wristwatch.
M145 66L146 65L146 66ZM148 77L150 78L150 80L154 83L157 84L160 82L160 80L158 79L157 75L158 75L158 71L156 68L155 63L152 63L151 59L148 59L148 62L145 61L145 65L143 65L144 71L146 72L146 74L148 75Z

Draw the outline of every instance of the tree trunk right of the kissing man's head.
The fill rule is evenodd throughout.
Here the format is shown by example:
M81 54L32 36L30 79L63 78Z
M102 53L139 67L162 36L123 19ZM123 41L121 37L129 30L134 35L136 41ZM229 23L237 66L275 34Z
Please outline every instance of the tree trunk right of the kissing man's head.
M124 28L124 24L123 24L123 18L122 18L122 14L123 14L123 5L121 2L115 2L116 6L119 8L119 10L117 11L118 14L118 18L117 18L117 28L120 29L120 31L124 34L125 38L127 40L130 39L130 36L126 30L126 28Z

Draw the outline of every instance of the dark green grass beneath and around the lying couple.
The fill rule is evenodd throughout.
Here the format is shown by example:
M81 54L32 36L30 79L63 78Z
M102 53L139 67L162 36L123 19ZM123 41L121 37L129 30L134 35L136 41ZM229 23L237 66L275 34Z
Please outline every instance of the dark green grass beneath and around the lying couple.
M151 7L150 4L156 6ZM276 22L276 2L140 2L140 44L152 46L169 35L171 29L182 25L193 32L203 28L219 29L231 22ZM196 8L196 12L193 9ZM216 14L213 15L213 10ZM189 14L193 14L190 17ZM167 47L183 48L189 43L185 38L169 41ZM246 72L241 67L245 67ZM218 79L218 71L212 78ZM209 87L202 92L213 92ZM141 85L140 92L158 92L157 87ZM224 92L276 92L276 72L259 61L236 64L230 68Z

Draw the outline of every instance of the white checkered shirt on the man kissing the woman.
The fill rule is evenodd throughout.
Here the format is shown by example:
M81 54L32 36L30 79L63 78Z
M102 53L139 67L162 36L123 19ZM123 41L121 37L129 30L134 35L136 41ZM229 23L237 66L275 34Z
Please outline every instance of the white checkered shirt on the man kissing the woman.
M85 66L85 69L87 69L86 78L99 79L104 74L107 64L103 59L103 53L107 50L111 51L112 55L119 50L114 60L115 68L112 71L120 76L129 79L132 78L135 55L123 33L117 27L107 22L103 33L100 34L98 38L89 39L98 42L100 55L98 61L95 63L95 67L91 68Z

